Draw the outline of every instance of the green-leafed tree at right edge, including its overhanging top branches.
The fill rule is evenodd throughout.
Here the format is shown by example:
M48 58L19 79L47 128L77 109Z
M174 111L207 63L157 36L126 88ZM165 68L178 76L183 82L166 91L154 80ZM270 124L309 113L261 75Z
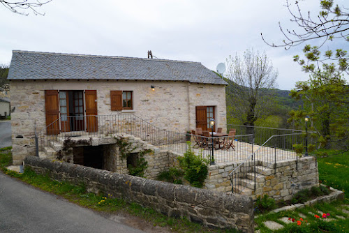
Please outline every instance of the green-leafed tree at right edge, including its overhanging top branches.
M349 148L349 87L345 75L349 74L349 56L346 50L321 51L327 42L349 43L348 7L339 6L334 0L320 1L320 12L304 14L302 2L291 5L286 1L290 11L291 22L296 29L280 29L285 40L281 45L267 43L272 47L295 47L304 42L319 43L319 46L305 45L304 57L296 55L294 61L310 74L309 80L297 82L290 95L303 100L303 107L290 112L289 121L297 126L304 126L304 117L311 117L313 130L318 131L322 145L339 149ZM294 8L295 6L295 8ZM265 39L262 37L265 41ZM343 46L343 45L341 45Z

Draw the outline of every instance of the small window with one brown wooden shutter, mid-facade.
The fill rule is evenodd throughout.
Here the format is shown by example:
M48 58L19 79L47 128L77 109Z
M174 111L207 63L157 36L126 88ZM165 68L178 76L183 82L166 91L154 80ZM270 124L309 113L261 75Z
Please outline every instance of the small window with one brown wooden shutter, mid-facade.
M132 91L110 91L111 110L133 110L132 97Z

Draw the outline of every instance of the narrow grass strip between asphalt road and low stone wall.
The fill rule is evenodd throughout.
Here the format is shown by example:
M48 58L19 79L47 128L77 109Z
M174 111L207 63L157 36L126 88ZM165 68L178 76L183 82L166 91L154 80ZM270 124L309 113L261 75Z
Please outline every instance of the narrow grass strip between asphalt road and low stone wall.
M112 198L112 196L95 195L87 193L84 186L73 186L67 182L53 181L48 176L40 176L31 170L25 170L23 174L7 170L6 167L12 163L10 147L0 149L0 172L13 176L21 181L31 184L37 188L60 195L70 202L79 204L95 211L105 213L126 213L146 220L152 225L167 227L171 232L237 232L234 229L217 230L191 223L186 218L169 218L153 209L149 209L140 204L128 204L124 200Z

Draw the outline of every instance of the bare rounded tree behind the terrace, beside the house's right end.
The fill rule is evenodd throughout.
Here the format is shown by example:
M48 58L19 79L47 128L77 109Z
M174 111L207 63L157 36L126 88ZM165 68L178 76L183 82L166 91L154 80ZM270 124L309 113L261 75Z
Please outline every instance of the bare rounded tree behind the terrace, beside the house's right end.
M265 52L246 50L243 57L237 54L227 59L228 112L244 125L254 126L267 105L270 89L276 87L277 70Z

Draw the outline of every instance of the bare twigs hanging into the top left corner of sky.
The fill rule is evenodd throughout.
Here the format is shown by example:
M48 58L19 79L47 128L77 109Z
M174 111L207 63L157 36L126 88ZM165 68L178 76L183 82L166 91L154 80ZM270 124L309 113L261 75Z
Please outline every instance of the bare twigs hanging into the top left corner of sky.
M36 8L43 6L46 3L49 3L52 0L48 1L39 1L39 0L22 0L22 1L8 1L8 0L0 0L0 3L3 4L8 10L11 10L13 13L17 13L20 15L29 15L29 13L25 13L27 9L32 10L35 15L45 15L45 13L40 13Z

